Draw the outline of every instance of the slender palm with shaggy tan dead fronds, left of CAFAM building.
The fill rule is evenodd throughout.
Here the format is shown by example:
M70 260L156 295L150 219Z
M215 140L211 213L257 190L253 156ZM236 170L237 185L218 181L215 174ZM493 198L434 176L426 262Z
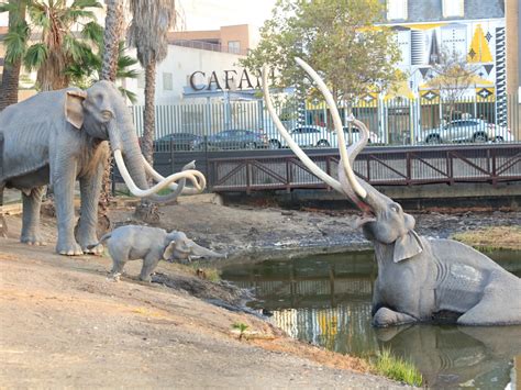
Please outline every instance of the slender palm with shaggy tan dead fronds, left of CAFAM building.
M137 51L137 59L145 69L145 112L142 151L146 160L153 164L153 142L155 127L155 76L156 65L165 59L168 51L167 33L177 20L175 0L130 0L132 22L129 42ZM143 200L136 213L144 221L158 219L157 207Z

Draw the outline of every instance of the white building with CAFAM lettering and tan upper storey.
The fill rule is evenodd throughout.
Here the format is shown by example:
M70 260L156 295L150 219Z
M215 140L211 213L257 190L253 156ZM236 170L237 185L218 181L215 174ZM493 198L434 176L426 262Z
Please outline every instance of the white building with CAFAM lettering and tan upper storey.
M198 103L208 99L250 100L258 80L241 67L256 42L248 25L223 26L217 31L170 33L167 57L157 66L157 104ZM144 103L144 73L124 81Z

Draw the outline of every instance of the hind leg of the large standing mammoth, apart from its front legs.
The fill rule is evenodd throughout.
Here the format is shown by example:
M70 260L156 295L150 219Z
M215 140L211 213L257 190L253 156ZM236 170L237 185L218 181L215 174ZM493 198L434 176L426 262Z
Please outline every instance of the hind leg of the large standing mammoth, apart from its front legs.
M40 208L45 187L35 187L30 193L22 191L23 219L20 241L29 245L46 245L40 236Z

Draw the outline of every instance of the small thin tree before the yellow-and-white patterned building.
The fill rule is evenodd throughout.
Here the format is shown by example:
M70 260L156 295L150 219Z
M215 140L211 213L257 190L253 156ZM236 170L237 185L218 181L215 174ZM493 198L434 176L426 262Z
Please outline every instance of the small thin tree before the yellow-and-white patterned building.
M466 55L448 47L443 47L439 59L432 64L434 78L428 82L431 88L439 89L443 94L446 111L446 120L450 122L456 118L456 102L461 100L468 88L476 80L477 66L467 63Z

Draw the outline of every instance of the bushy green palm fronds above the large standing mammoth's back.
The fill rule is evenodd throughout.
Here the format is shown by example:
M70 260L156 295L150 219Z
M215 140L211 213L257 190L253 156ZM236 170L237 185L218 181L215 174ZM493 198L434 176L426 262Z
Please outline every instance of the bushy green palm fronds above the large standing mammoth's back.
M23 4L29 23L21 18ZM5 35L5 62L12 64L22 58L25 68L37 70L37 86L44 89L63 88L74 85L90 87L99 79L103 51L103 27L96 21L93 8L102 8L96 0L20 0L18 3L0 4L0 12L10 12L19 18ZM79 25L80 38L71 31ZM31 32L40 38L29 46ZM27 47L29 46L29 47ZM135 58L124 53L120 43L118 78L135 78ZM135 101L135 94L125 90L122 94Z

